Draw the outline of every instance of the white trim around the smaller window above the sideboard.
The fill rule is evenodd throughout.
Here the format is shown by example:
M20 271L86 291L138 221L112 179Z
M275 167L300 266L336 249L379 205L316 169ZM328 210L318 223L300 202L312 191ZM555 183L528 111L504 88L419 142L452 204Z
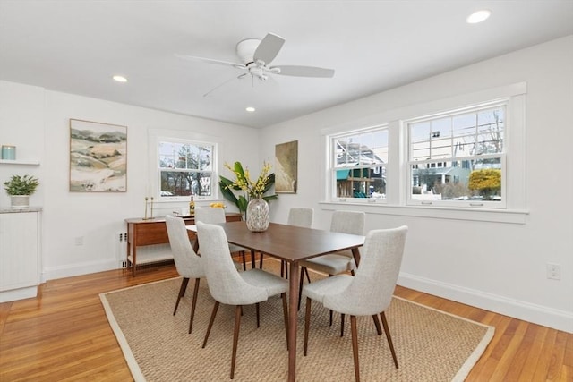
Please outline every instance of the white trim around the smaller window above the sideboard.
M164 130L164 129L150 129L149 130L149 163L148 163L148 185L146 187L147 194L155 198L154 202L169 203L169 202L189 202L189 197L186 196L173 196L161 197L159 195L158 184L160 182L159 168L158 168L158 143L161 141L179 142L179 143L197 143L212 145L215 155L212 160L213 184L211 186L211 196L194 195L195 200L218 200L218 139L206 134L196 132L186 132L182 130Z

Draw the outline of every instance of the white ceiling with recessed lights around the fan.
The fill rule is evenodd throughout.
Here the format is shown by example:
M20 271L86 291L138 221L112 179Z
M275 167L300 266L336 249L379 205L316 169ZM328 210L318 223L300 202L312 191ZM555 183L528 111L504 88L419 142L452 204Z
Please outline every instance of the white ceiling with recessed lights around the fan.
M267 32L286 39L272 64L334 78L235 79L203 97L242 72L175 57L240 62L236 43ZM264 127L569 34L573 0L0 0L0 80Z

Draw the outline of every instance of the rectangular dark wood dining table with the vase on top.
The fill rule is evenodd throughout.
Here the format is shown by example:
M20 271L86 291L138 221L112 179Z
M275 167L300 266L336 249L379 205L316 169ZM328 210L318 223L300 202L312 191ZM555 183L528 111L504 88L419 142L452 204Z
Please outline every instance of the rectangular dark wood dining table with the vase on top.
M296 331L298 315L299 262L316 258L340 250L351 250L356 266L360 263L359 247L364 244L364 236L349 233L336 233L320 229L269 223L262 232L252 232L244 221L219 223L227 234L227 242L273 258L286 261L289 265L288 287L288 381L296 380ZM196 225L187 229L197 232ZM195 250L201 246L195 241ZM254 260L253 264L254 264Z

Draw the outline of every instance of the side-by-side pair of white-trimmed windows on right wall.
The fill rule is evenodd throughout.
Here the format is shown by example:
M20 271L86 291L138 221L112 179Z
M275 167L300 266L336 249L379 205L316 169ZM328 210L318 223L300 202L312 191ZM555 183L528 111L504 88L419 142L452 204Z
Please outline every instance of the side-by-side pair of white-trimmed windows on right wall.
M517 82L381 107L323 128L322 203L358 205L372 214L524 224L526 92L526 82Z

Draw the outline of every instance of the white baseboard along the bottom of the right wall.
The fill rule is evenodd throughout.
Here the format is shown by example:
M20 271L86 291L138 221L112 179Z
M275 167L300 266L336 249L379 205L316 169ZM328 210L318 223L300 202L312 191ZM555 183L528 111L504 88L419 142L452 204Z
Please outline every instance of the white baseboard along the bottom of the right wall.
M497 294L484 293L455 284L400 272L398 284L423 293L430 293L452 301L458 301L484 310L522 319L573 333L573 312L556 310L543 305L518 301Z

